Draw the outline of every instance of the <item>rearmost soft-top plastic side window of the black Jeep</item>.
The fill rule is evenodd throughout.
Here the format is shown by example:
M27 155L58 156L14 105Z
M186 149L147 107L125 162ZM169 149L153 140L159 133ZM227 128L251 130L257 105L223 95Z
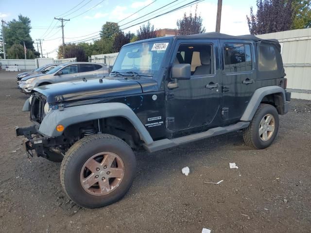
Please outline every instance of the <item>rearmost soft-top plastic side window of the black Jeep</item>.
M258 70L277 70L276 50L273 46L259 45Z

